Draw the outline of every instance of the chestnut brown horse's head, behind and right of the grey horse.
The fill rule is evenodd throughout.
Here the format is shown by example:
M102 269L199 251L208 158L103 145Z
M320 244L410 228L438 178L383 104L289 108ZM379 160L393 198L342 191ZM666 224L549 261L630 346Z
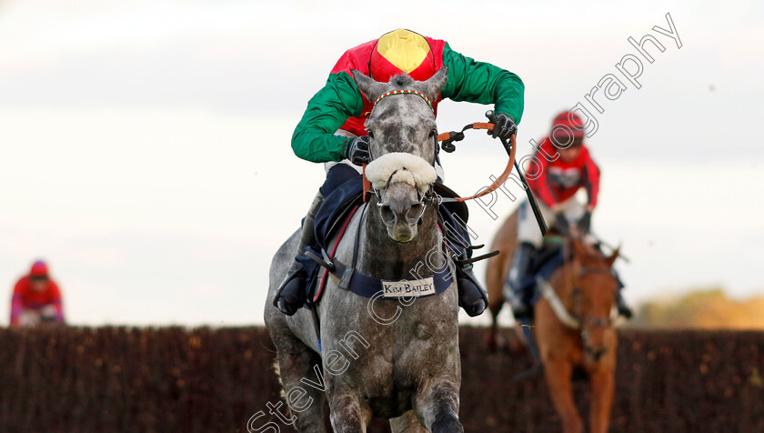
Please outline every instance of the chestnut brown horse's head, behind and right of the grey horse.
M597 362L608 350L608 333L612 332L611 309L618 291L618 278L613 273L613 263L618 249L605 256L598 248L576 238L571 241L573 314L581 322L581 339L584 356Z

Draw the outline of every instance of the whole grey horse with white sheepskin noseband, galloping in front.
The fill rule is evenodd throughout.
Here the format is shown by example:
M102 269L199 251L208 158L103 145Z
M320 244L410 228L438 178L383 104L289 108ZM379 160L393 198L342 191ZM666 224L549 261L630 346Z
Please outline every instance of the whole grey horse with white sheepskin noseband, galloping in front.
M432 169L435 116L421 96L435 100L446 84L447 68L423 82L403 75L379 83L358 71L353 74L371 101L393 90L421 95L383 96L372 110L367 129L373 161L367 173L377 159L387 160L387 166L377 166L376 194L350 221L336 257L351 263L360 230L357 272L388 281L424 278L437 269L453 275L437 228L436 206L422 194L435 180L434 170L427 178L421 176L427 170L412 167L426 161ZM445 291L433 296L369 299L339 288L337 278L329 277L317 308L319 352L311 311L302 308L286 317L271 304L295 256L298 237L297 232L286 240L273 258L265 311L290 408L291 418L286 419L302 432L326 431L326 398L336 432L365 432L371 418L390 419L395 432L464 431L457 415L461 366L456 280L451 277Z

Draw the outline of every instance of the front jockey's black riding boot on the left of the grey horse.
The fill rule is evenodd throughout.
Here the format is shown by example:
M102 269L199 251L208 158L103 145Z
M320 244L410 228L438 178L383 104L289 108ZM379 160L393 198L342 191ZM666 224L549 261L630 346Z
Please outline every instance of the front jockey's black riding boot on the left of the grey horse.
M316 235L313 231L313 219L316 217L318 207L324 202L324 196L319 191L310 208L307 209L307 215L303 220L302 232L300 233L300 243L297 247L297 256L305 252L305 248L316 243ZM292 262L292 266L286 272L286 277L281 286L276 289L276 296L273 299L274 307L278 307L286 316L293 316L305 304L307 272L297 259Z

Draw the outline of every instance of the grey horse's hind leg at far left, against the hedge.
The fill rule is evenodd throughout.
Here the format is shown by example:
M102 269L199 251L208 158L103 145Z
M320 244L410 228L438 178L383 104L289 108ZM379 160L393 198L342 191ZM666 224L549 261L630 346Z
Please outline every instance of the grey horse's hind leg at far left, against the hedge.
M290 408L286 418L297 417L295 422L297 431L326 433L327 430L324 428L326 395L318 389L321 388L323 378L317 378L314 368L318 366L318 371L321 371L321 357L292 334L286 327L286 321L283 327L269 325L268 330L276 345L278 374L284 389L284 397ZM319 386L311 387L301 382L303 378ZM280 413L286 414L286 408L282 408Z

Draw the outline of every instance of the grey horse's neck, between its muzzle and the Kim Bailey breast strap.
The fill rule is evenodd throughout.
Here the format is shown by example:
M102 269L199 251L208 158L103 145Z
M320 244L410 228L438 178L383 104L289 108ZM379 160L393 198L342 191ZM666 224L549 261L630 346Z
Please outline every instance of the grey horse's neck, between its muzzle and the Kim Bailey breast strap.
M361 237L361 258L357 269L362 274L382 279L412 279L415 275L431 274L429 267L437 269L443 265L445 256L442 254L434 206L427 206L422 224L417 229L417 237L406 244L387 236L387 228L374 202L368 205L366 224L361 229L365 233Z

